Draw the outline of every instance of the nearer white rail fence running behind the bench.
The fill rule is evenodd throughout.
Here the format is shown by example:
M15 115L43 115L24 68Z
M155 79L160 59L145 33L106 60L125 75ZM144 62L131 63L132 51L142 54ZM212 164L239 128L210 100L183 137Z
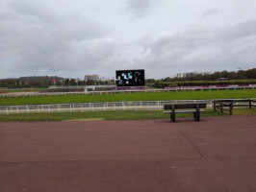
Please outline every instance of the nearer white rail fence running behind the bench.
M166 104L207 103L212 107L212 100L170 100L109 103L74 103L50 105L0 106L0 113L35 113L35 112L77 112L106 110L163 110Z

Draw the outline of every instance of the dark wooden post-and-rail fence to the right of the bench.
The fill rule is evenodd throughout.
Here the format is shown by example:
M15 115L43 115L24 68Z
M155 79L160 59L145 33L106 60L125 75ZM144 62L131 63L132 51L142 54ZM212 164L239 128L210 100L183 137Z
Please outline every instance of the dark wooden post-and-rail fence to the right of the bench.
M229 114L232 115L232 110L234 107L256 107L254 105L255 100L252 99L238 99L238 100L214 100L214 109L216 111L219 108L220 112L223 113L223 110L229 111Z

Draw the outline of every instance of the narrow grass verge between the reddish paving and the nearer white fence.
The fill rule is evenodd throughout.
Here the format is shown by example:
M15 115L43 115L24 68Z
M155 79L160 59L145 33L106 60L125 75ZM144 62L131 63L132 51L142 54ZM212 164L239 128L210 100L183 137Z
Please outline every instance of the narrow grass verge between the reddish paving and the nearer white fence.
M234 115L256 115L256 108L234 109ZM220 116L214 109L207 109L202 117ZM190 117L192 114L177 114L177 118ZM144 120L144 119L168 119L169 115L162 110L137 110L137 111L90 111L90 112L62 112L62 113L19 113L1 114L2 122L34 122L34 121L78 121L78 120Z

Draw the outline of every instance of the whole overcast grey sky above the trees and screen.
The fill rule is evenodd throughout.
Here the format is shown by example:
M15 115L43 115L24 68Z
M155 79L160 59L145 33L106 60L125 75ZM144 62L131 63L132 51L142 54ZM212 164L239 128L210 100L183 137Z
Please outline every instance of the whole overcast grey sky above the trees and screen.
M256 67L255 0L0 0L0 79Z

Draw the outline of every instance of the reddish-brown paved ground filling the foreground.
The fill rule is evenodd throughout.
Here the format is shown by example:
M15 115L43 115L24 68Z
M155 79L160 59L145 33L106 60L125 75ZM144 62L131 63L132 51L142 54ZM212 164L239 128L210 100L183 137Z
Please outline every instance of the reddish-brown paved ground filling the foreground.
M255 192L256 116L0 123L1 192Z

